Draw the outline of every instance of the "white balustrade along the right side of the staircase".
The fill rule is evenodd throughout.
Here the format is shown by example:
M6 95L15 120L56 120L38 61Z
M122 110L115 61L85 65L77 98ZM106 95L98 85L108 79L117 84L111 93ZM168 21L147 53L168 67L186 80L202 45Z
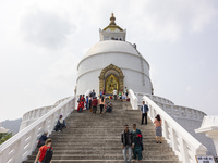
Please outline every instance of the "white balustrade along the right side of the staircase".
M148 116L153 122L157 114L160 115L162 120L164 137L180 161L183 163L196 163L195 155L206 155L207 149L182 126L180 126L171 116L169 116L148 97L144 96L143 100L149 108Z

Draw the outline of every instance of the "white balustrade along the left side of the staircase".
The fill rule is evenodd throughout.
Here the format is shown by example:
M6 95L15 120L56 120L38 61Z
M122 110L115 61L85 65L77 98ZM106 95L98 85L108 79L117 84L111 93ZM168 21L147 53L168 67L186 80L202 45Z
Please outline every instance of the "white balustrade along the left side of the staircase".
M21 163L35 150L37 139L46 130L53 130L60 114L66 117L75 109L75 98L70 97L60 105L36 120L0 146L0 163Z

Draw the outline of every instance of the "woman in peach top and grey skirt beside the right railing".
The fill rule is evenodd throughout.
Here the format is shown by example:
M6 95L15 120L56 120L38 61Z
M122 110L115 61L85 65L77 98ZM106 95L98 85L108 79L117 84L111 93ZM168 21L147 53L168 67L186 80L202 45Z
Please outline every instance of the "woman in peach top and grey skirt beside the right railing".
M156 130L156 140L157 140L157 143L158 143L158 138L159 138L159 142L162 143L162 121L160 118L160 115L157 114L157 116L155 117L155 121L154 121L154 124L155 124L155 130Z

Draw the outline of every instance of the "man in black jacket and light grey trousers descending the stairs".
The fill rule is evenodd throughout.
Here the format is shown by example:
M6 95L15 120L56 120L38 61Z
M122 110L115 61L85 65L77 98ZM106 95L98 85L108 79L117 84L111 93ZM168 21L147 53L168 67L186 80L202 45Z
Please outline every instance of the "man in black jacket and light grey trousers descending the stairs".
M134 141L133 141L133 134L129 130L129 126L124 126L124 130L121 134L121 142L122 142L122 150L124 155L125 163L131 163L132 159L132 149L134 148ZM126 150L129 151L129 161L126 158Z

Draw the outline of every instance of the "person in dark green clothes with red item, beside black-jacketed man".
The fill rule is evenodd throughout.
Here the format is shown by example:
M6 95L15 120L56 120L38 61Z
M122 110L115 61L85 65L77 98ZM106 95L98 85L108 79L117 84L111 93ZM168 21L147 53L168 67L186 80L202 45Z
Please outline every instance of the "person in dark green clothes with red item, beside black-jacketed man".
M133 141L134 141L134 148L133 148L133 159L136 161L136 158L138 161L142 161L142 151L143 151L143 136L140 129L136 128L136 124L133 124L133 129L131 130L133 133Z

